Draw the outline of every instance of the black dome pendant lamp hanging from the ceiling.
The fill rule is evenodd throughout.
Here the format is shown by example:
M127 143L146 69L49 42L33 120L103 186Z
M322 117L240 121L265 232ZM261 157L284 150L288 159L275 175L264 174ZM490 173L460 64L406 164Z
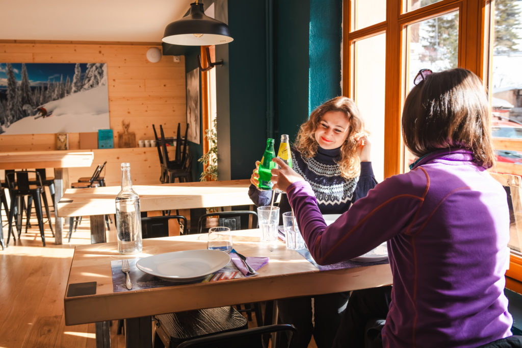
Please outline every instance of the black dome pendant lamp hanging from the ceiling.
M161 41L186 46L206 46L229 43L234 40L223 22L205 15L203 2L191 4L188 15L165 28Z

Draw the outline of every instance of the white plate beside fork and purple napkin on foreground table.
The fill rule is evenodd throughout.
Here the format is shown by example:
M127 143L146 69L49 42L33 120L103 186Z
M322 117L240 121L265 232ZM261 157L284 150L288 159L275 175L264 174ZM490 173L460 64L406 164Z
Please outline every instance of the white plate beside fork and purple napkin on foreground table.
M198 249L149 256L138 260L136 267L164 280L193 282L222 269L229 261L226 252Z

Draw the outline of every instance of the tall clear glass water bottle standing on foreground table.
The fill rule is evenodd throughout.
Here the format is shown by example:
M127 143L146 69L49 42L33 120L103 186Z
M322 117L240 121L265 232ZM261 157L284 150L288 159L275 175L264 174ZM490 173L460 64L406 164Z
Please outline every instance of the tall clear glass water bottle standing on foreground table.
M131 165L122 163L122 190L116 195L118 252L141 252L141 214L139 196L132 189Z

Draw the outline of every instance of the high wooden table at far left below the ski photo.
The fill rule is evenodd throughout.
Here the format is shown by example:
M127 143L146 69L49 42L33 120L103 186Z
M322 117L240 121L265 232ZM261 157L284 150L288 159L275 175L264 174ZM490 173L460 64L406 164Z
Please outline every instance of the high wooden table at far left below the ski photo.
M0 169L54 168L54 214L55 243L62 244L63 218L57 215L57 203L62 198L64 189L69 187L68 168L90 167L94 153L69 150L2 152Z

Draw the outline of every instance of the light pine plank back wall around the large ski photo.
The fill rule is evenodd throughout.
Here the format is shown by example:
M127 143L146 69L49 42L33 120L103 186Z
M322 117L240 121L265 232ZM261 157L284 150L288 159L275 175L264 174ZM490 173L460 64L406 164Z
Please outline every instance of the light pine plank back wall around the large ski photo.
M110 127L123 130L130 122L136 140L152 140L152 124L163 125L166 136L175 136L177 123L185 124L185 64L163 56L158 63L147 61L146 52L159 45L72 42L0 42L0 62L107 64ZM0 135L0 151L54 150L55 134ZM69 133L69 149L79 149L79 133ZM156 148L94 149L92 168L69 171L71 181L90 176L98 163L108 160L108 185L120 184L120 163L131 162L136 183L159 183Z

